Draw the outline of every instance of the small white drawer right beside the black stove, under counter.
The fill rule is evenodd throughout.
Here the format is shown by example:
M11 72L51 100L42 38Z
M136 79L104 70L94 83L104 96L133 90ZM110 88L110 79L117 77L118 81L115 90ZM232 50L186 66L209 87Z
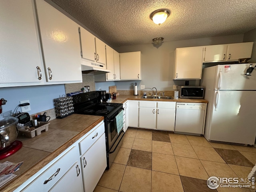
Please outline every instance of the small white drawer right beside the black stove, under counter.
M92 146L92 144L94 144L94 142L100 138L102 134L104 134L104 123L102 122L102 124L93 129L94 130L88 136L86 136L86 138L79 142L81 155L84 154L90 148L90 146Z

